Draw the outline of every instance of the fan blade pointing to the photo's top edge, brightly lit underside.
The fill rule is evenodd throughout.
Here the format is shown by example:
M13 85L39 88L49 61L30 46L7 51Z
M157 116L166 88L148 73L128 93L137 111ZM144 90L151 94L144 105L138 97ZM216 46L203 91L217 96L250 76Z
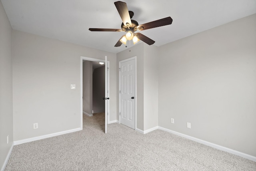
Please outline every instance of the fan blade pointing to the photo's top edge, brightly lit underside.
M120 17L122 18L124 25L127 26L126 23L128 23L130 26L132 26L132 21L126 3L117 1L114 2L114 4L118 10L118 13L120 14Z

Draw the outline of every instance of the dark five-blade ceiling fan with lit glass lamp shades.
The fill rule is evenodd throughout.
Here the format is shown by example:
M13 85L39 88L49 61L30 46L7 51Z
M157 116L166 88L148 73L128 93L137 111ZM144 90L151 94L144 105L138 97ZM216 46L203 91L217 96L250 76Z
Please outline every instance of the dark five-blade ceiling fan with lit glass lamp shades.
M147 36L144 36L141 33L134 33L134 32L136 32L137 30L142 31L150 28L156 28L156 27L172 24L172 18L166 17L160 20L139 25L138 22L136 22L135 20L131 20L134 13L132 11L128 11L128 8L125 2L117 1L117 2L114 2L114 4L123 21L121 25L121 29L89 28L89 30L92 32L126 32L126 34L122 36L120 40L118 40L115 47L121 46L122 43L126 44L127 40L133 40L134 44L136 44L139 40L142 40L146 44L152 45L155 43L154 40L148 38Z

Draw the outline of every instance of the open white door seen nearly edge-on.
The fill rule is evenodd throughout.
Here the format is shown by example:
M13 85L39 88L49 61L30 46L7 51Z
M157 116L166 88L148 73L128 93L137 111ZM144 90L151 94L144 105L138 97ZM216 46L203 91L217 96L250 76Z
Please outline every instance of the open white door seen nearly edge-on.
M107 125L108 125L108 60L107 56L105 56L105 133L107 133Z

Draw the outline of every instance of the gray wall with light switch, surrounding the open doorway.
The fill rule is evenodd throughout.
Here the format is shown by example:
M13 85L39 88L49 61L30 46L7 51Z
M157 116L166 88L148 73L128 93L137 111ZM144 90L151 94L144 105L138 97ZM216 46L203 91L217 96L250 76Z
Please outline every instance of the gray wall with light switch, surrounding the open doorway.
M79 128L80 56L104 60L105 55L116 66L116 54L13 30L14 141ZM115 67L110 67L110 98L112 121Z

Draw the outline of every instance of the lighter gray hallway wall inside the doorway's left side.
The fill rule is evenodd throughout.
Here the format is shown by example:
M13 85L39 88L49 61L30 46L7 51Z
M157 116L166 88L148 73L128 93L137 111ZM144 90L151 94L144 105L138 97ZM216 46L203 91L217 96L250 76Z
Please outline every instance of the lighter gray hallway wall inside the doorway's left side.
M83 62L83 111L92 114L92 61Z

